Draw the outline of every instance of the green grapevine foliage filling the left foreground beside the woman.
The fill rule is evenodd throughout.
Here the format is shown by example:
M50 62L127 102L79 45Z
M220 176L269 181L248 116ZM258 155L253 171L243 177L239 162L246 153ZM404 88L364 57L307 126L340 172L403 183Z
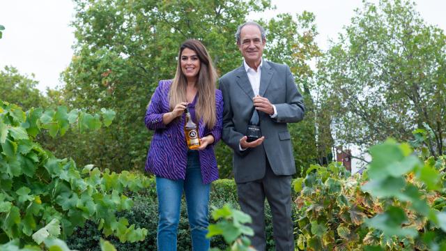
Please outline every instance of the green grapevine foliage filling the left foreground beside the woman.
M108 109L89 114L79 109L68 112L66 107L24 112L0 101L0 243L48 248L51 240L65 239L86 220L97 222L105 236L113 234L122 242L144 239L146 229L116 213L132 208L125 192L141 190L148 178L101 172L93 165L79 168L71 158L56 158L36 142L42 130L52 137L69 128L93 131L109 126L114 116Z

